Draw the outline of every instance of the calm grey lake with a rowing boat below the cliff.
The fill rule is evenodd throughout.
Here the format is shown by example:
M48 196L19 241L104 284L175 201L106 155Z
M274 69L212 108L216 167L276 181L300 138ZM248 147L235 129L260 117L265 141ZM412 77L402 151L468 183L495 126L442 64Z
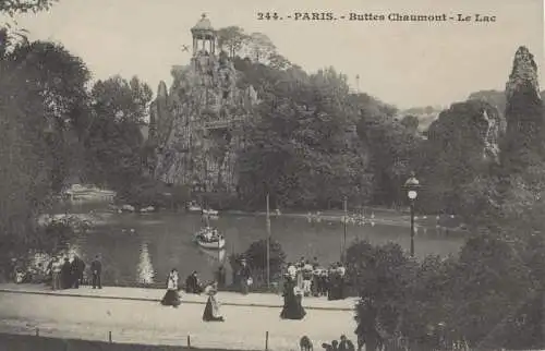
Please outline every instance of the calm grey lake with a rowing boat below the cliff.
M199 215L169 211L117 214L107 211L105 204L71 206L72 213L88 213L90 209L96 211L101 222L75 237L71 241L71 251L87 264L100 254L105 285L162 282L173 267L178 268L183 279L193 270L197 270L203 279L210 279L219 259L228 262L231 253L241 253L252 242L266 238L264 216L220 214L213 225L225 233L226 249L221 252L206 251L192 241L193 233L202 226ZM347 246L360 239L373 244L393 241L409 250L408 223L384 225L379 223L378 217L374 226L347 225ZM282 245L288 262L301 256L316 256L322 264L329 264L340 258L343 225L325 219L311 221L305 216L281 215L271 218L271 235ZM460 235L441 234L433 226L419 227L415 255L457 253L462 243Z

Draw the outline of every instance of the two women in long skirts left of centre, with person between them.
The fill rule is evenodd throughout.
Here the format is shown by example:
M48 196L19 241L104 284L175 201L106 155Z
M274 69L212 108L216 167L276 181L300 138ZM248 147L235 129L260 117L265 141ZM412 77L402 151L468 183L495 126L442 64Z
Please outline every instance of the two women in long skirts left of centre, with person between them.
M170 271L167 278L167 292L161 300L161 304L165 306L172 306L177 308L181 304L180 293L181 287L179 286L179 275L178 270L174 268ZM203 312L203 320L205 322L223 322L223 316L219 311L219 302L217 300L218 293L218 282L214 281L206 287L203 288L201 282L198 281L198 277L196 271L193 271L187 279L185 280L186 292L187 293L197 293L202 292L208 295L208 300L206 301L206 306Z

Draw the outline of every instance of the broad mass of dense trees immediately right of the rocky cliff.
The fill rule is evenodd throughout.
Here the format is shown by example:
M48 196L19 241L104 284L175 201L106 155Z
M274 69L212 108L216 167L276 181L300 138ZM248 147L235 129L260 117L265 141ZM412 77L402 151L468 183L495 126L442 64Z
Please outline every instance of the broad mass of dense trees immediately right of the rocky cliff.
M325 208L344 196L354 204L399 199L417 144L396 109L350 92L332 69L306 74L237 61L263 96L240 153L240 196L246 204ZM386 195L385 195L386 194ZM254 206L255 206L254 205Z

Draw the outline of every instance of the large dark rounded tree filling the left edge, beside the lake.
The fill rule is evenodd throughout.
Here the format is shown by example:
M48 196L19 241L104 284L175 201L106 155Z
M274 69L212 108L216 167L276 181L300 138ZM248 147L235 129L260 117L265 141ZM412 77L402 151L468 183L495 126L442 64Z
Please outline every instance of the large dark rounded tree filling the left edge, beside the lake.
M37 215L71 174L73 124L86 105L88 71L62 46L19 43L0 59L2 252L48 250ZM7 199L7 201L5 201Z

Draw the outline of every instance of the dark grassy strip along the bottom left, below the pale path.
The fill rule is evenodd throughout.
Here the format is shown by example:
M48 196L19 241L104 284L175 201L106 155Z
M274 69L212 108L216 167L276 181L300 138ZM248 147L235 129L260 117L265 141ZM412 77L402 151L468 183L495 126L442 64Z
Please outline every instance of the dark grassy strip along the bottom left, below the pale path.
M181 351L190 349L203 351L220 350L170 346L110 343L104 341L57 339L26 335L0 334L0 351Z

